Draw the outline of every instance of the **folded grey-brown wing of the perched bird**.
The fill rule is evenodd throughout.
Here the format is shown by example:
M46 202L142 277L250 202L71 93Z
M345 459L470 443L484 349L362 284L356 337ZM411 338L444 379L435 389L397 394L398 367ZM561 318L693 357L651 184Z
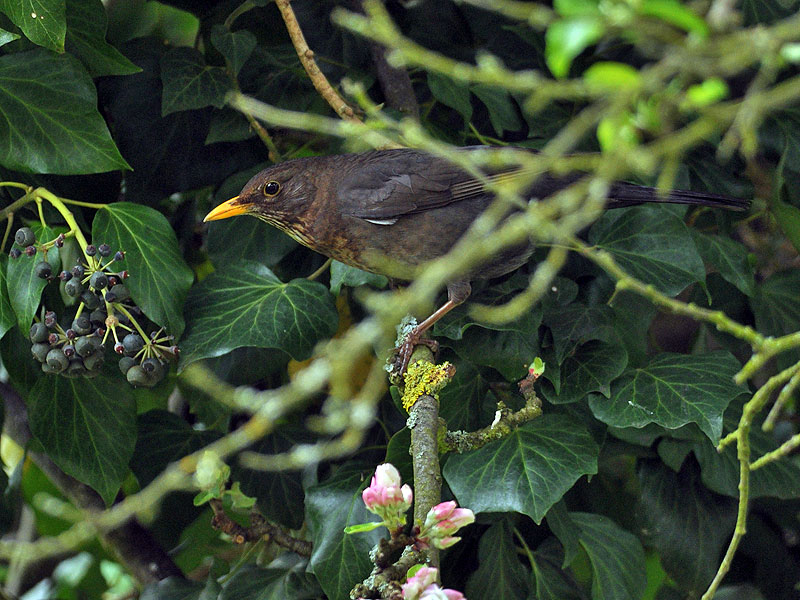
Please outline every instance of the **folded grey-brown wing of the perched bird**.
M372 152L337 188L342 211L380 225L486 194L456 165L415 150Z

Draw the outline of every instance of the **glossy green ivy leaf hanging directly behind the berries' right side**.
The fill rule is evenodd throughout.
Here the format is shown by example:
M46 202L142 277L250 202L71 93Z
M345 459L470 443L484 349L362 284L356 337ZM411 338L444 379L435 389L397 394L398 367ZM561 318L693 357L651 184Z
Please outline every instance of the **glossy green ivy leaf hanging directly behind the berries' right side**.
M194 273L183 260L166 217L140 204L107 204L94 217L92 240L125 252L119 268L128 271L125 285L131 297L151 321L179 337L184 299Z

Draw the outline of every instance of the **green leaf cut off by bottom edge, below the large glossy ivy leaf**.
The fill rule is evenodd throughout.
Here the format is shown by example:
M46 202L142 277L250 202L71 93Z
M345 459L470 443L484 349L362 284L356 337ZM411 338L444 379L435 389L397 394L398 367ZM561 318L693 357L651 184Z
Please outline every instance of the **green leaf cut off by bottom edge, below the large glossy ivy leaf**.
M570 513L592 565L592 599L640 600L647 586L644 549L608 517Z

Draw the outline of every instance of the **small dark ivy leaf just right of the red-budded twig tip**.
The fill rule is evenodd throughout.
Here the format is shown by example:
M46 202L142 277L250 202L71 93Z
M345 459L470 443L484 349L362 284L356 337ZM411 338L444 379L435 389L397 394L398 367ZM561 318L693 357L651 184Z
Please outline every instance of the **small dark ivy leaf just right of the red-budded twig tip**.
M567 357L561 365L561 386L557 394L543 392L554 404L567 404L585 398L590 392L608 397L610 384L628 364L628 353L618 344L593 340Z

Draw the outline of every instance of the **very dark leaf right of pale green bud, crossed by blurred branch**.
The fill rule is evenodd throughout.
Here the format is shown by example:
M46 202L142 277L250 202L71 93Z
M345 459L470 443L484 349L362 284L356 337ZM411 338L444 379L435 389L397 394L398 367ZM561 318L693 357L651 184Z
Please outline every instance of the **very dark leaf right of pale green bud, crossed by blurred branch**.
M301 441L308 441L308 434L304 430L284 426L247 450L259 454L278 454L290 450ZM231 474L242 485L245 494L256 498L258 508L265 517L289 529L302 526L305 518L304 496L299 472L245 469L236 461Z

